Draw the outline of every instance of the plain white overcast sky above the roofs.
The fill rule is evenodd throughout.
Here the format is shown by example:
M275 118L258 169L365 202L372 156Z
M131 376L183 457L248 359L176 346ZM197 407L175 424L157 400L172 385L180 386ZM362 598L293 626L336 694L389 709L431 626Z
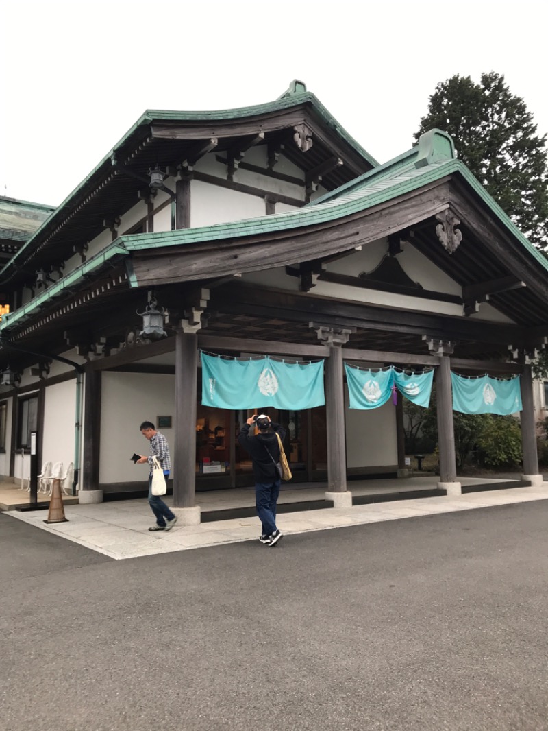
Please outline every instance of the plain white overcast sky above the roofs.
M548 133L548 3L7 0L0 195L59 205L146 109L277 99L297 78L378 162L437 83L504 75Z

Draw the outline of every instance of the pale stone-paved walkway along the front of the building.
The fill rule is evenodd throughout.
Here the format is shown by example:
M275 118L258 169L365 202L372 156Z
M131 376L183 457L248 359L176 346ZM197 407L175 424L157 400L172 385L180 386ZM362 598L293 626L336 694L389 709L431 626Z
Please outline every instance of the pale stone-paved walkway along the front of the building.
M406 483L406 489L419 490L435 487L437 477L422 477ZM379 490L387 493L402 492L401 482L397 480L371 480L351 482L349 488L354 496L368 492L378 494ZM463 485L492 482L492 480L461 480ZM376 483L376 484L373 484ZM391 484L392 483L392 484ZM232 494L231 494L232 493ZM313 493L313 496L307 493ZM308 499L319 499L321 488L303 488L284 490L283 502L300 502ZM377 523L381 520L399 520L415 518L421 515L433 515L456 510L492 507L511 503L548 499L548 482L538 488L509 488L496 491L468 493L460 496L435 496L428 498L402 499L373 504L354 505L349 508L322 508L319 510L302 510L286 512L278 515L278 527L286 539L291 534L306 531L320 531L343 526ZM166 498L171 504L172 498ZM197 494L197 503L202 511L223 510L234 507L250 507L254 504L252 490L210 491ZM86 548L91 548L111 558L136 558L151 556L156 553L204 548L205 546L239 541L257 540L259 537L259 520L252 518L233 518L201 523L199 526L175 526L171 531L148 531L154 522L151 509L146 499L134 499L105 502L98 505L66 505L66 523L44 523L47 513L44 510L31 512L10 511L17 520L24 520L39 529L64 537ZM266 550L262 547L261 550ZM69 545L66 546L69 550Z

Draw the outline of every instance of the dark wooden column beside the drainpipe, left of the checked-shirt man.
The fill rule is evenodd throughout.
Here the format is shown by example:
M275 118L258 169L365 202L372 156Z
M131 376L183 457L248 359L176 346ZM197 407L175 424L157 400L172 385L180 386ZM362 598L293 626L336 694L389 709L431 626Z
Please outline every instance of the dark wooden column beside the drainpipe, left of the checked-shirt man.
M138 426L138 424L137 424ZM101 439L101 371L85 365L83 456L80 490L99 490L99 447Z

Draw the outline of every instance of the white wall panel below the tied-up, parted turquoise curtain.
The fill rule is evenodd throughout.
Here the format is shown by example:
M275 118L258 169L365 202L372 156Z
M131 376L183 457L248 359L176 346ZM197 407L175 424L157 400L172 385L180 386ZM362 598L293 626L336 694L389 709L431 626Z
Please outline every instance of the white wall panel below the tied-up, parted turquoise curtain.
M345 384L345 403L349 402ZM390 399L378 409L346 407L346 463L351 467L397 464L396 409Z

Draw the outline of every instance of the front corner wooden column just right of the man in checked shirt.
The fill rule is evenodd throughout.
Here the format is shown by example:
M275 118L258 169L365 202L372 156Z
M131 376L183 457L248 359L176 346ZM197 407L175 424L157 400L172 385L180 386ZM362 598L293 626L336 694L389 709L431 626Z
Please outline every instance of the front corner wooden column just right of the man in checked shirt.
M173 506L194 507L198 336L180 327L175 336L175 444ZM191 330L193 328L190 328Z

